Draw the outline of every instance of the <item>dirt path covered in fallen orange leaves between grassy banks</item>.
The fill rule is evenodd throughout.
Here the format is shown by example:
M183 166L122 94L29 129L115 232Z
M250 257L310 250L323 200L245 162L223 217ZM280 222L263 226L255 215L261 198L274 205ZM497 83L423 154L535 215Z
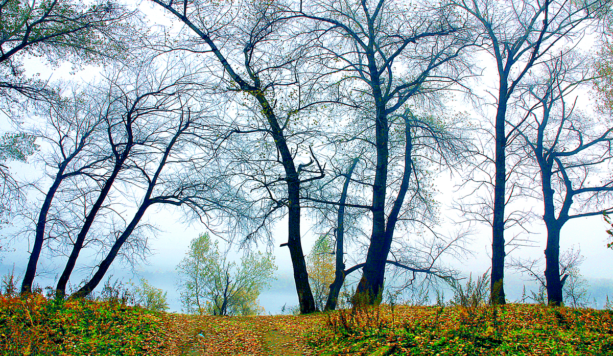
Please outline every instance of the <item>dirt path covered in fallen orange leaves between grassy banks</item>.
M325 324L322 314L313 316L213 317L168 314L167 338L161 355L213 356L311 356L308 345L312 326Z

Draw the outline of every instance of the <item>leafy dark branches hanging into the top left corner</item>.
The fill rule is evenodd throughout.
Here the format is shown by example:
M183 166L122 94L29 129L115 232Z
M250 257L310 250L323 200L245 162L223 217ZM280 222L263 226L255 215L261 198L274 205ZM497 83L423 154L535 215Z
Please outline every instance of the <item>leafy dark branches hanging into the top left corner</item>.
M70 60L73 66L125 59L133 13L115 2L85 5L62 0L2 0L0 2L0 96L20 100L51 99L44 80L28 78L23 58L42 57L51 66Z

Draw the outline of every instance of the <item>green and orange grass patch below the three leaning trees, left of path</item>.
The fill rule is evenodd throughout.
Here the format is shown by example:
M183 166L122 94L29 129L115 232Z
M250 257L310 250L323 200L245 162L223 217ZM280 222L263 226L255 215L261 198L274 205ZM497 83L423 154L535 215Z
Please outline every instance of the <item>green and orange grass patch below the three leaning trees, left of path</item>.
M0 295L2 355L145 355L161 324L156 312L110 301Z

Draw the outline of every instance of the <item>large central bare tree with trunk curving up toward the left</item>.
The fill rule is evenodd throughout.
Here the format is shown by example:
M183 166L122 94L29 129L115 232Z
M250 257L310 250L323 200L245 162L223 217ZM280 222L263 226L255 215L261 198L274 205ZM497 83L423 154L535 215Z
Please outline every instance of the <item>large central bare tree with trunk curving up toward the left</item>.
M289 248L300 311L315 311L300 240L300 191L324 175L309 148L316 132L297 128L308 115L303 113L316 107L316 85L323 77L319 67L307 65L310 49L300 44L302 34L287 25L281 17L283 6L276 2L152 1L189 28L197 38L190 39L189 50L209 53L216 62L211 72L221 86L235 94L232 99L239 108L248 107L246 118L233 123L233 135L256 135L257 140L251 138L254 145L246 143L249 138L241 143L243 153L249 153L236 161L237 167L246 184L272 202L265 215L287 211L287 243L281 246ZM202 42L206 49L196 46ZM311 156L309 162L303 161L305 154Z

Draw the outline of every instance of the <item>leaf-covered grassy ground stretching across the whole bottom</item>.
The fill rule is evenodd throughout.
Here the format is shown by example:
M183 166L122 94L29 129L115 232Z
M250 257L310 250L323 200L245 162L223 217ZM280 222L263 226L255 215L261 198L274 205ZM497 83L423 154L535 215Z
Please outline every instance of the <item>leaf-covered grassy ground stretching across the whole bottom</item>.
M0 296L0 350L3 355L190 355L190 350L212 355L240 349L241 355L261 355L284 349L266 346L266 335L280 333L294 338L292 347L304 351L300 354L319 356L611 356L612 317L611 311L516 304L199 317L112 301L56 302L35 294L26 300Z

